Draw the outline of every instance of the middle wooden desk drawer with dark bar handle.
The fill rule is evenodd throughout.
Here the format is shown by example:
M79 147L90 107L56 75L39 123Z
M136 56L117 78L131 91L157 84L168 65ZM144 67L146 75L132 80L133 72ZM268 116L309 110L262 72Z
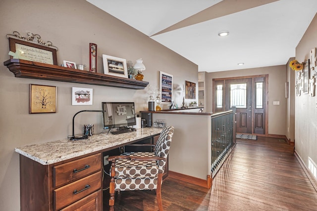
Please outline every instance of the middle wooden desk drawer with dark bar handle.
M70 205L101 189L101 171L54 190L55 210Z

